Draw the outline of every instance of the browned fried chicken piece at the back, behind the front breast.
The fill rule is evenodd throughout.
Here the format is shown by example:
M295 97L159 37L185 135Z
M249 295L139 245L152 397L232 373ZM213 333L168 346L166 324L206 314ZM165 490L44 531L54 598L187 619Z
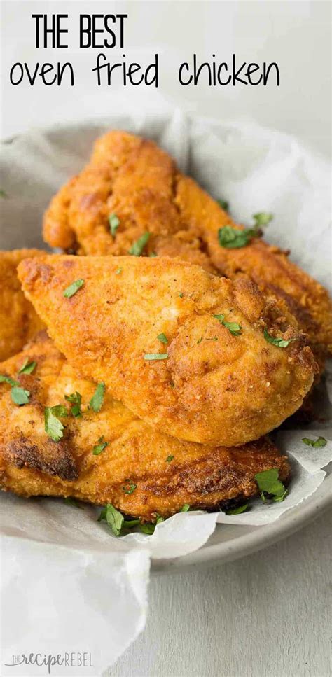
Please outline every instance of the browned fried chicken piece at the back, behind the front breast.
M120 220L114 236L110 214ZM218 231L225 225L242 228L167 153L152 141L113 131L96 141L87 167L53 198L44 237L64 250L119 255L150 232L147 253L179 256L230 279L247 275L265 295L286 302L322 370L332 351L331 302L324 287L261 239L223 248Z

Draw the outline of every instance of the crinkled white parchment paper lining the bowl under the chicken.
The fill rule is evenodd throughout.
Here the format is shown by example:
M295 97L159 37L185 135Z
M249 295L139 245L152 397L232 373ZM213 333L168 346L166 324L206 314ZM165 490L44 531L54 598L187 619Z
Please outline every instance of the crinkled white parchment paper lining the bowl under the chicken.
M110 128L144 134L164 146L181 169L249 225L251 214L272 211L269 242L291 248L293 260L331 287L329 259L329 172L320 158L295 139L254 123L174 116L109 116L92 123L35 130L4 144L1 154L3 201L1 249L42 246L41 217L50 197L90 155L94 139ZM328 384L331 388L331 385ZM323 393L328 411L327 391ZM326 447L306 447L303 437L328 439ZM116 661L144 629L151 559L181 557L202 547L221 523L260 526L298 505L324 481L332 460L332 431L279 431L289 454L292 481L283 503L257 500L242 515L188 512L174 515L153 536L114 537L96 522L96 510L4 494L1 503L1 674L34 677L48 665L22 663L22 655L60 655L50 673L93 675ZM65 658L71 656L71 664ZM83 664L84 655L84 664ZM81 659L79 658L81 656ZM79 664L81 660L81 664ZM74 662L74 664L73 664Z

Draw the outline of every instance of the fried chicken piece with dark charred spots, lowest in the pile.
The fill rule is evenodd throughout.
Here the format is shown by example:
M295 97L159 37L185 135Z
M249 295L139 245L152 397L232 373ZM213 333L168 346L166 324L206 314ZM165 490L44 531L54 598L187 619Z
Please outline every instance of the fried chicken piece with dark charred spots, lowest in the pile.
M17 377L26 361L31 375ZM0 365L19 379L29 403L18 407L10 387L0 384L0 486L20 496L74 496L113 505L127 515L168 517L184 503L217 508L225 501L258 493L255 474L278 468L289 477L289 461L267 438L244 447L205 447L180 442L148 426L106 391L99 412L88 409L93 382L79 378L46 332ZM71 406L64 395L78 392L83 415L62 417L63 437L54 442L44 429L44 407ZM99 454L93 449L107 446ZM134 489L132 489L134 487ZM126 491L132 491L126 493Z

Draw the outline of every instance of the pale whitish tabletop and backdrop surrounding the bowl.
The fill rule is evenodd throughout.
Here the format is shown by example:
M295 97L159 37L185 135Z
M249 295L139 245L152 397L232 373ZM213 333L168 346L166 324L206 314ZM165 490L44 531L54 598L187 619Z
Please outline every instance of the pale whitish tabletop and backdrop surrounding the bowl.
M92 9L93 6L93 9ZM330 11L326 2L2 2L2 136L64 119L162 105L215 117L251 117L330 151ZM34 50L32 13L128 13L125 53L160 54L160 88L97 88L100 50ZM75 39L72 41L75 43ZM123 50L121 50L123 51ZM281 85L183 88L177 67L196 52L220 60L277 61ZM115 55L109 57L115 58ZM75 66L75 88L8 84L13 62ZM109 677L328 677L332 515L241 561L153 578L146 631ZM88 619L85 620L88 622ZM93 628L91 629L93 631Z

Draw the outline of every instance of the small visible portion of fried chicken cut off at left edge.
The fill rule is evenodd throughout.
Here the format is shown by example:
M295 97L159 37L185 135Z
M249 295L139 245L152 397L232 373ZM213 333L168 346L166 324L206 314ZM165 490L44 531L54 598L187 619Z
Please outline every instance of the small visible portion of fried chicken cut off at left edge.
M0 251L0 361L18 353L43 323L22 292L16 268L27 256L41 256L39 249Z

